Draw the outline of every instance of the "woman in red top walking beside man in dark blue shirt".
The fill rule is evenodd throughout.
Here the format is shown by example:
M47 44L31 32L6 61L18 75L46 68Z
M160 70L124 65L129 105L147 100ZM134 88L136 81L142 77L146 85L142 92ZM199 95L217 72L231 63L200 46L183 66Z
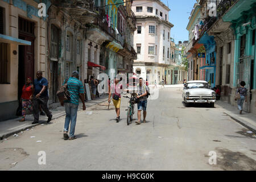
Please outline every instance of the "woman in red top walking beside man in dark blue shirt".
M25 121L26 109L32 112L31 96L32 96L33 90L34 90L34 85L32 85L32 79L28 77L26 84L23 86L23 89L22 89L22 96L20 97L20 101L22 102L22 119L19 120L20 122Z

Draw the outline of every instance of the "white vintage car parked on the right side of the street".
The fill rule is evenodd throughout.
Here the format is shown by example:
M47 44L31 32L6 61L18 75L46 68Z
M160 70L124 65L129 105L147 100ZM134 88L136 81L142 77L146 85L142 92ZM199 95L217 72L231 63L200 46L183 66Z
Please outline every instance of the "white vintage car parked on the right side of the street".
M210 89L207 81L191 80L188 81L183 89L182 97L185 106L189 103L209 103L214 107L216 93Z

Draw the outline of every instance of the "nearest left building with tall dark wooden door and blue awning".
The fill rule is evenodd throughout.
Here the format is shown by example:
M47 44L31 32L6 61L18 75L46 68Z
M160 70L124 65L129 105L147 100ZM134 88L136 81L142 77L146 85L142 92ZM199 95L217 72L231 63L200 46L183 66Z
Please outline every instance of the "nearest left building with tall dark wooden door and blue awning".
M42 1L46 11L51 5ZM47 71L47 23L39 1L0 0L0 121L14 118L26 78Z

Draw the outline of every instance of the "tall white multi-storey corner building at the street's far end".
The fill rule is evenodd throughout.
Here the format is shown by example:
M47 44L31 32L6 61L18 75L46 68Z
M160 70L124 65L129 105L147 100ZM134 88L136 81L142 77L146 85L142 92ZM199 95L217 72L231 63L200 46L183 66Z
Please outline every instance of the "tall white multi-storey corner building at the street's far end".
M170 78L170 31L173 24L169 22L170 9L161 1L134 1L132 10L137 19L137 31L134 34L134 47L137 60L133 71L149 84L159 84Z

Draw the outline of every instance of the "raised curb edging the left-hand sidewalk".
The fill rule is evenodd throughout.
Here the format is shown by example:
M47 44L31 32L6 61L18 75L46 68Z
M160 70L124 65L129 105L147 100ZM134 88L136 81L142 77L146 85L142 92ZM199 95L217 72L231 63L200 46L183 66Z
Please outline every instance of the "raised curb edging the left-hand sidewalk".
M107 100L108 100L108 99L106 99L106 100L104 100L104 101L101 101L101 102L98 102L98 103L96 103L96 104L100 104L100 103L105 102L105 101L107 101ZM94 105L96 105L96 104L90 105L90 106L88 106L88 107L94 106ZM86 108L87 108L87 107L86 107ZM80 110L82 110L82 109L80 108L80 109L78 109L77 111L80 111ZM62 111L61 113L58 113L58 114L56 114L55 116L52 115L52 120L53 120L53 119L60 118L60 117L63 117L63 115L65 115L65 114L66 114L65 111ZM23 129L11 131L10 133L7 133L7 134L4 134L4 135L0 136L0 140L3 140L3 139L5 139L5 138L8 138L8 137L10 137L11 135L14 135L14 134L18 134L18 133L20 133L21 131L24 131L24 130L27 130L27 129L31 129L32 127L35 127L35 126L37 126L37 125L42 125L43 123L46 123L46 121L44 121L44 122L39 122L39 123L36 123L36 124L34 124L34 125L31 125L31 126L24 127Z

